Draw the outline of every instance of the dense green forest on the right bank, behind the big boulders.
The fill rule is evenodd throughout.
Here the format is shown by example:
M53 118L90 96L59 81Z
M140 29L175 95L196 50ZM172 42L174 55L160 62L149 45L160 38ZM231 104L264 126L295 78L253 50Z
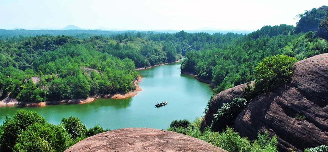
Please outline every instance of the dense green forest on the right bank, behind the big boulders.
M211 81L215 93L255 80L254 70L265 57L278 54L299 60L327 53L327 41L314 38L314 32L291 35L293 26L264 26L231 42L211 43L186 53L181 71Z

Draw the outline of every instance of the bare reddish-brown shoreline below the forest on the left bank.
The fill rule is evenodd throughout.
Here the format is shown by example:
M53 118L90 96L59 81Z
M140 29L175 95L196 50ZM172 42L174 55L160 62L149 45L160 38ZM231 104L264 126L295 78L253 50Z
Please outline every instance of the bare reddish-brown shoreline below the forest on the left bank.
M98 98L124 99L137 95L138 94L137 92L142 90L141 88L139 88L139 85L137 85L137 83L141 82L141 79L142 77L139 75L138 80L133 81L135 90L125 94L118 93L118 94L92 95L82 99L65 99L65 100L53 100L53 101L43 101L43 102L24 102L24 101L18 101L17 99L7 96L5 99L0 101L0 107L9 107L9 106L43 107L43 106L58 105L58 104L84 104L84 103L93 102L95 99Z

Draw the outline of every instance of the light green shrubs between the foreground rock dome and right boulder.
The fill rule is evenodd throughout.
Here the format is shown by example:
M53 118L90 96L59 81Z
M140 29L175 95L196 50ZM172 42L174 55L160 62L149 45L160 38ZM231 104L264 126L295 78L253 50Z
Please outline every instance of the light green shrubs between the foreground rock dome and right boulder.
M229 152L277 152L277 136L269 137L268 132L264 134L258 132L257 139L254 141L249 141L247 137L242 138L239 133L230 127L226 127L226 131L222 132L215 132L207 127L201 133L201 120L201 118L196 118L188 127L180 127L175 132L199 138ZM174 131L172 127L167 130Z

